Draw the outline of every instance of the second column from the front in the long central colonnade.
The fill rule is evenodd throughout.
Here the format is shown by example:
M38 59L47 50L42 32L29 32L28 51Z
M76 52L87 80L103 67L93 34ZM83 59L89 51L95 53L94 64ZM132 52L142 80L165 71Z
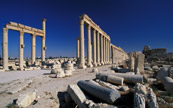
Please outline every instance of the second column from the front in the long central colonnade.
M93 67L91 63L91 26L87 25L87 66Z

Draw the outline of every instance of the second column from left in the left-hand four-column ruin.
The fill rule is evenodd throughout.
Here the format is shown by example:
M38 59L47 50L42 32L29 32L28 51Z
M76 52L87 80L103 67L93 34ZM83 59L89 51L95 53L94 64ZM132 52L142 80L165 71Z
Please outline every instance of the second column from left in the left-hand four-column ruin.
M20 70L23 70L23 50L24 50L24 42L23 42L24 32L19 32L19 67Z

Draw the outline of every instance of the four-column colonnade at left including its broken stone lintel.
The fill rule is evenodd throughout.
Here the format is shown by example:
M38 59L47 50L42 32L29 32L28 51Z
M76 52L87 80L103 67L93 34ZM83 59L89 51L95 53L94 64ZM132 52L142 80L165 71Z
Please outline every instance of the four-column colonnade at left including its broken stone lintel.
M19 68L23 70L24 59L24 33L32 35L32 63L35 63L36 36L42 37L42 61L45 61L45 34L46 34L46 19L42 20L42 30L31 28L15 22L10 22L3 28L3 68L8 70L8 30L19 31Z

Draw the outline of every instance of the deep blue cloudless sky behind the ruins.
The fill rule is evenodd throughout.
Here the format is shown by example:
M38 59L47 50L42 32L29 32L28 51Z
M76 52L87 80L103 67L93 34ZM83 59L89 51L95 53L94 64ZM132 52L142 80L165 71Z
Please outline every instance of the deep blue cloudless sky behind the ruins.
M76 56L79 16L84 13L126 52L142 51L145 45L173 52L172 0L0 0L0 41L9 21L41 29L46 18L46 57ZM24 57L31 57L31 40L24 35ZM18 57L18 43L19 33L10 30L9 56ZM41 56L40 37L36 56Z

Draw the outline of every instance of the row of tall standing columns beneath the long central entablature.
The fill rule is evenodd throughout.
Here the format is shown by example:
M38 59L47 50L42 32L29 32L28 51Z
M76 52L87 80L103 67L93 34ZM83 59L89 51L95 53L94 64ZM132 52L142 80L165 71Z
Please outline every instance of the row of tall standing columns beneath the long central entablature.
M86 68L84 56L84 20L80 20L80 37L77 39L77 58L79 68ZM92 30L92 50L91 50ZM110 39L87 24L87 67L110 63Z

